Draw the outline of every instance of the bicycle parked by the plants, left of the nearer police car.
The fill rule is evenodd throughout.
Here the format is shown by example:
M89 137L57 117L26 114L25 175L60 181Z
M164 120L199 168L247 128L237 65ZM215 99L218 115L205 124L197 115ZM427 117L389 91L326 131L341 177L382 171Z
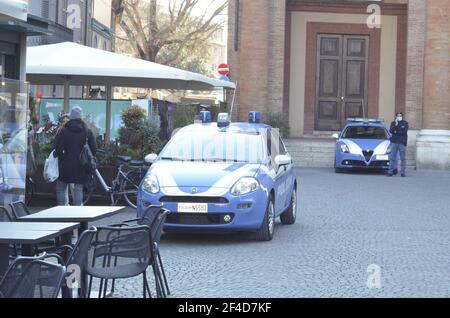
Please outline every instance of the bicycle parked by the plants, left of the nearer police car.
M101 150L97 152L104 153ZM136 208L139 185L147 173L148 166L144 160L132 160L128 156L117 156L116 158L122 164L112 185L107 185L105 179L97 169L95 171L94 183L84 187L84 205L91 199L92 193L96 188L96 183L98 183L105 192L109 193L111 205L117 205L119 200L123 198L130 207Z

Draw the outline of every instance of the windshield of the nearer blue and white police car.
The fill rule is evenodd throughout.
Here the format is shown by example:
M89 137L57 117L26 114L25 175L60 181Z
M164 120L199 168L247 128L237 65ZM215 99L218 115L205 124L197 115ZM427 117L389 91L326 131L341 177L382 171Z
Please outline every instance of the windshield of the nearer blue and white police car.
M162 160L261 163L265 157L257 131L187 131L177 133L160 154Z

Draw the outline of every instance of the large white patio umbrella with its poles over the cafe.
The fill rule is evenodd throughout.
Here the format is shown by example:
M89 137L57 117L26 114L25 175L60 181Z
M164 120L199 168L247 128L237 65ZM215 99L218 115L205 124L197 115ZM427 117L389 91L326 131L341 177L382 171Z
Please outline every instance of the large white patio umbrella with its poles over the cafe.
M27 80L34 85L64 85L64 108L69 108L70 85L107 87L106 137L110 132L111 87L179 90L235 89L232 82L145 60L94 49L73 42L27 49Z

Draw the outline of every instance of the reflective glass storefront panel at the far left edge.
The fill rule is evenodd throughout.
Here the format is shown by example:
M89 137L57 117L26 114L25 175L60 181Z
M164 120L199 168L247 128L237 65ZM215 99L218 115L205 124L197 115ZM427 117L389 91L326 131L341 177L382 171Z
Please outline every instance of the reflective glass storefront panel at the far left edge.
M0 205L24 200L28 83L0 78Z

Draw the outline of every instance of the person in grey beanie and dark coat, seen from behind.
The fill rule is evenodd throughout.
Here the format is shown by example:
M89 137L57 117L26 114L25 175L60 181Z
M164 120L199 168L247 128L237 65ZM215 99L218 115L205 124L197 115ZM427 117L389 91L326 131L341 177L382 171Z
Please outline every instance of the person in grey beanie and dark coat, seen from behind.
M69 205L68 188L74 184L73 202L83 204L83 186L91 177L80 163L80 153L86 141L95 156L97 145L90 129L82 120L83 110L76 106L70 112L67 122L55 138L55 156L59 159L59 179L56 184L58 205Z

